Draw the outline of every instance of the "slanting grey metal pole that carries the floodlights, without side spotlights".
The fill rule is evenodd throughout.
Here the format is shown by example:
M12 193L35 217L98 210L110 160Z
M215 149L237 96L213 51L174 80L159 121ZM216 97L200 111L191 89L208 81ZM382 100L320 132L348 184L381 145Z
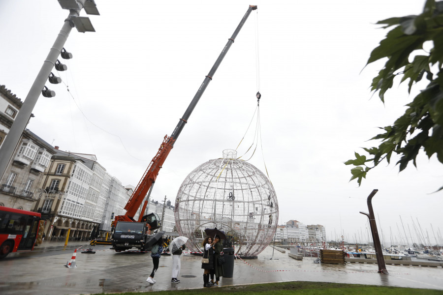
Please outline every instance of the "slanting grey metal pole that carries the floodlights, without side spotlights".
M48 56L46 57L45 61L43 62L43 65L40 69L40 71L37 74L37 77L34 80L34 83L32 84L31 89L28 92L28 95L26 96L25 101L22 104L22 107L20 108L20 111L17 114L17 118L15 118L11 129L9 130L7 136L5 137L3 144L0 148L0 179L3 177L3 175L6 172L6 169L8 167L9 161L12 158L12 155L14 153L15 148L19 144L20 137L23 133L23 131L26 128L26 125L28 124L29 119L31 118L32 110L34 109L35 104L37 103L38 97L41 94L42 89L45 86L46 80L48 80L48 77L52 71L52 68L54 67L60 53L62 52L64 43L66 42L66 39L69 35L69 32L74 27L74 20L75 18L79 17L80 10L83 9L85 6L85 2L90 0L71 0L66 1L72 4L72 2L78 6L76 9L69 9L69 15L64 20L64 24L62 29L60 30L59 35L57 36L54 45L51 47ZM63 0L59 0L60 4L63 7ZM94 3L95 5L95 3ZM66 8L67 9L67 8ZM82 19L82 18L79 18ZM83 18L84 19L84 18ZM79 27L77 27L79 29ZM88 30L88 29L87 29Z

